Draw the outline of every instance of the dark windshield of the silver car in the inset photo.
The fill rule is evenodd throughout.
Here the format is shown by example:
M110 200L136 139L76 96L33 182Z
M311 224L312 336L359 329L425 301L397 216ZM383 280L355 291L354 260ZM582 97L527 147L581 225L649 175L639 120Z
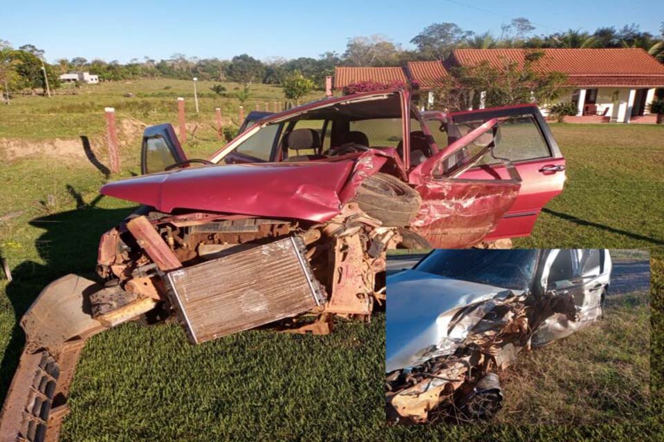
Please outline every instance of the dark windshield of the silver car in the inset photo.
M537 250L436 250L414 269L506 289L531 285Z

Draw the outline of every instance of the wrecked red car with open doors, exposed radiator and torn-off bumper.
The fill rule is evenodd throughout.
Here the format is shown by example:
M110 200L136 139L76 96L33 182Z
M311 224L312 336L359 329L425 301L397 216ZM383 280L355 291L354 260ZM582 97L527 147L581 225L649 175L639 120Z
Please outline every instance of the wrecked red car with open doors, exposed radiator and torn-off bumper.
M385 300L385 251L530 233L564 159L535 105L422 114L407 89L324 99L260 119L209 160L147 128L145 175L103 195L141 204L102 236L97 272L42 291L2 440L57 439L89 336L176 316L192 343L270 324L324 334Z

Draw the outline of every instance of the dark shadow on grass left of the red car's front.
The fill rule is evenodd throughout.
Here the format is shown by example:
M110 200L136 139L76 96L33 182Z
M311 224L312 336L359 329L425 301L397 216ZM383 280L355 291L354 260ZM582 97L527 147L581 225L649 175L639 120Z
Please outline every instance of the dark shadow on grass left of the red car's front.
M6 287L6 296L14 310L15 325L0 361L0 403L7 394L25 344L24 332L19 325L21 316L49 282L67 273L98 280L94 269L100 236L135 209L99 209L95 204L101 197L86 204L72 186L67 186L67 189L77 195L75 199L79 209L35 218L29 223L44 229L35 245L46 265L34 261L22 262L12 271L13 280Z

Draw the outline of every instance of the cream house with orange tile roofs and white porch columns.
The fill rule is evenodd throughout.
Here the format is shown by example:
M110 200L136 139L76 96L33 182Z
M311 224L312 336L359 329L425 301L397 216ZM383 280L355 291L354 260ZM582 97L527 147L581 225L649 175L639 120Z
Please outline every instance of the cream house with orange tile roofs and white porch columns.
M657 88L664 88L664 65L639 48L542 49L544 56L533 64L540 72L567 75L569 92L560 102L573 102L578 109L570 122L655 122L649 104ZM432 104L434 90L443 85L450 70L487 61L492 66L506 62L523 65L528 49L457 49L444 62L414 61L403 68L348 68L335 70L335 88L358 81L407 78L427 92ZM398 72L398 71L401 72ZM479 91L481 93L481 91ZM422 103L422 101L421 101ZM547 104L542 104L546 115ZM480 107L483 107L480 104Z

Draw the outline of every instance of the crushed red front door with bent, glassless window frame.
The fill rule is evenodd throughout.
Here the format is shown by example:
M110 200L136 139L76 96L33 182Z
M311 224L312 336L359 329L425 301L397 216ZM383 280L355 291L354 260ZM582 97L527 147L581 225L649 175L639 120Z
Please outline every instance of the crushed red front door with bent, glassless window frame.
M413 229L437 249L470 247L493 231L519 195L522 179L509 160L494 155L499 120L490 119L449 144L409 173L422 197ZM476 149L477 148L477 149ZM465 155L470 150L477 153ZM465 177L490 155L506 177ZM450 160L461 158L450 167Z

